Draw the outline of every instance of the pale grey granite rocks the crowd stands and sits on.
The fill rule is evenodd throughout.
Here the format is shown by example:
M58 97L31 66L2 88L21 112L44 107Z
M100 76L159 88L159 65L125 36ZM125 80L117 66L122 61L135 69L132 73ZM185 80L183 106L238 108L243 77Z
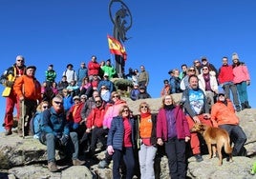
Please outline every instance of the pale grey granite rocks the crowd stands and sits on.
M179 102L181 95L174 96L175 101ZM153 112L160 109L161 99L145 99L131 101L125 99L129 107L138 113L139 102L146 101L149 103ZM238 113L241 121L240 124L245 130L247 149L250 157L234 157L232 163L224 160L222 167L218 166L218 159L208 159L203 155L203 162L197 163L193 157L188 159L188 176L190 178L253 178L249 174L252 163L255 161L256 154L256 109L245 109ZM57 153L57 152L56 152ZM59 156L56 154L57 159ZM31 136L25 139L18 137L13 133L11 136L5 136L0 133L0 178L111 178L110 169L97 169L97 160L104 157L104 152L97 154L97 160L82 156L86 160L86 165L81 167L69 167L62 165L59 172L52 173L47 169L46 146L40 144ZM167 158L162 157L160 161L161 177L169 178Z

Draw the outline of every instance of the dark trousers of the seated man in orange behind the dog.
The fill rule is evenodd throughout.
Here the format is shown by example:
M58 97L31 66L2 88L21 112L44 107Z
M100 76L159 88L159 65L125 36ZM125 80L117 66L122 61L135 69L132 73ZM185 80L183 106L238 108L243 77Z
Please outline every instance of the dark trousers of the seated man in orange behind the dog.
M219 127L228 132L231 142L234 143L232 155L238 155L247 140L244 130L238 125L221 125Z

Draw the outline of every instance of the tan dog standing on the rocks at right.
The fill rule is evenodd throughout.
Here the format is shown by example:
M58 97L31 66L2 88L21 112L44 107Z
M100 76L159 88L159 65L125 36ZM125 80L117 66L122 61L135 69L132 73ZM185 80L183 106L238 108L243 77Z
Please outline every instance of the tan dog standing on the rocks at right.
M223 155L222 149L224 147L224 152L229 154L230 162L232 162L232 148L230 147L230 138L225 129L208 127L203 124L195 124L195 126L190 129L191 132L200 132L203 135L203 139L208 148L209 158L212 158L213 152L219 155L219 166L223 165ZM215 148L216 146L216 148Z

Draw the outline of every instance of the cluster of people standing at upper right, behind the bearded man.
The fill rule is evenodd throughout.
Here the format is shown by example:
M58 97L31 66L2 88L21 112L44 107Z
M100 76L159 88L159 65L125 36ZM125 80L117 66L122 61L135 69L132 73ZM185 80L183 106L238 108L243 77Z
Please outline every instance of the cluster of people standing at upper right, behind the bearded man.
M191 67L181 65L181 72L178 69L170 70L170 79L163 81L164 86L160 95L168 93L179 93L188 87L190 75L197 75L199 86L203 89L207 101L212 106L217 100L218 88L221 86L227 98L232 92L233 103L237 111L250 109L247 95L247 86L250 85L250 76L244 62L241 62L236 52L232 54L232 65L228 64L228 57L222 58L222 66L217 70L208 59L203 56L201 61L196 59Z

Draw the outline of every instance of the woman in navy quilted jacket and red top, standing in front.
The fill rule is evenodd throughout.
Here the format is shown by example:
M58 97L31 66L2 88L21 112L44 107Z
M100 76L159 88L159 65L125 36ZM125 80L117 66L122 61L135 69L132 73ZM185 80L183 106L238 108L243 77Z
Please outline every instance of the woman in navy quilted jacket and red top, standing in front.
M129 107L126 105L119 109L118 115L111 122L107 146L107 152L113 159L113 178L121 178L119 168L123 161L126 167L125 177L132 179L135 170L135 122L130 115Z

